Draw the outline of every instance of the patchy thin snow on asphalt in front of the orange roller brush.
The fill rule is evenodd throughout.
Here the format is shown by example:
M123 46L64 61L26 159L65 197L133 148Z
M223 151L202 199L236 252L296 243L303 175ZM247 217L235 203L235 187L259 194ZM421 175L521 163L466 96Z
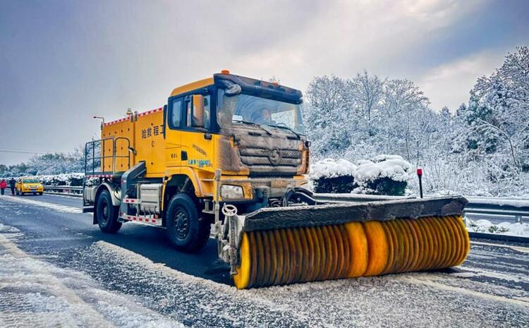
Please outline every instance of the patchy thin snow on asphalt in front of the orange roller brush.
M528 291L462 279L461 272L394 274L237 291L106 242L92 245L90 254L98 255L92 262L117 268L129 288L137 285L156 291L146 297L159 304L162 312L185 323L202 322L196 327L524 327L529 322ZM487 273L475 270L471 274ZM179 308L181 303L193 310Z

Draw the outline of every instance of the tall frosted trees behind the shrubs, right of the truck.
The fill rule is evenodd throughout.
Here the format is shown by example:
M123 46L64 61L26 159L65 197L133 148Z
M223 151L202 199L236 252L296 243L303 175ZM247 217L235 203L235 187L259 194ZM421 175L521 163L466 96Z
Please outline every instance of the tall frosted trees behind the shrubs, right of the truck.
M529 193L529 51L478 79L468 104L434 111L410 80L316 77L305 93L312 159L396 154L425 169L427 192ZM416 188L416 179L408 186Z

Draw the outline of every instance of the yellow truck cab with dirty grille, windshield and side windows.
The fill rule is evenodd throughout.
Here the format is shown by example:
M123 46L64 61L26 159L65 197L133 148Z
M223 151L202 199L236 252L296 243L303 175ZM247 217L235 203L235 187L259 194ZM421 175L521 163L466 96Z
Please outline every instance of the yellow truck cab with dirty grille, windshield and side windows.
M221 188L224 199L281 198L308 171L301 103L298 90L226 72L176 88L166 110L166 170L193 169L200 196L213 197L208 179L220 169L241 179Z

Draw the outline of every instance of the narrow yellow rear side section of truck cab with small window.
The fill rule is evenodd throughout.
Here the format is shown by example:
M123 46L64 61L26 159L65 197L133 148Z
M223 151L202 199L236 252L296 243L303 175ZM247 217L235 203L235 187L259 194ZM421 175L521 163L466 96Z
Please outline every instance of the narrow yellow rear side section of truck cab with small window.
M167 118L165 130L165 162L167 166L181 166L182 155L182 126L183 122L183 97L171 98L167 105Z

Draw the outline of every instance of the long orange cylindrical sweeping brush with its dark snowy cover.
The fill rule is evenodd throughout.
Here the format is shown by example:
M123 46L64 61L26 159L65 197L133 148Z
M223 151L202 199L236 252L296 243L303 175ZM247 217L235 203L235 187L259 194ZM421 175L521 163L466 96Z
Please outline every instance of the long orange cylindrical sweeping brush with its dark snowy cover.
M253 288L460 265L463 197L263 208L241 218L233 281Z

